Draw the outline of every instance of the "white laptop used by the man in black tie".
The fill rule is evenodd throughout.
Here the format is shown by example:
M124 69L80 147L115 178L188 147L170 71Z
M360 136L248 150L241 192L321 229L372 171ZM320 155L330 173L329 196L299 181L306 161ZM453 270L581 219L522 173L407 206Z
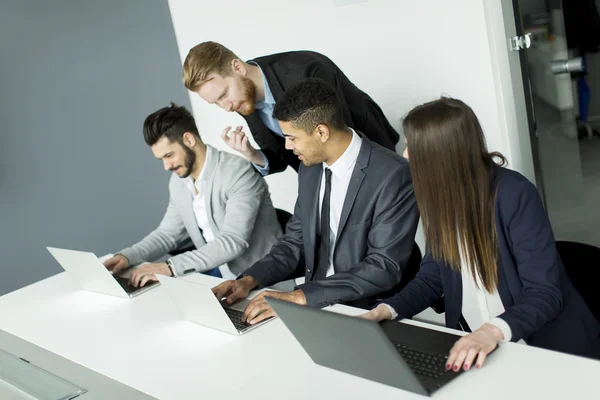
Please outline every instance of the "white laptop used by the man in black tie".
M157 275L157 277L184 318L196 324L232 335L243 335L272 319L248 325L243 322L242 316L249 300L225 305L217 300L210 286L164 275Z

